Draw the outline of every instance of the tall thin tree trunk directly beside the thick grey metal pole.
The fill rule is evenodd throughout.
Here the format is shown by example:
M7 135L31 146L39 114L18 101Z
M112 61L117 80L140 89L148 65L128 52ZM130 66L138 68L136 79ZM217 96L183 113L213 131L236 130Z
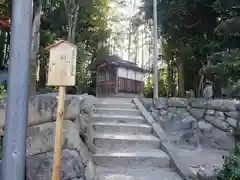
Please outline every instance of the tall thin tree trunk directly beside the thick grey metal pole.
M34 13L33 27L32 27L32 44L31 44L31 56L29 65L29 85L28 91L29 96L36 94L36 74L37 74L37 54L39 52L39 41L40 41L40 25L41 25L41 11L42 4L39 1L39 5Z

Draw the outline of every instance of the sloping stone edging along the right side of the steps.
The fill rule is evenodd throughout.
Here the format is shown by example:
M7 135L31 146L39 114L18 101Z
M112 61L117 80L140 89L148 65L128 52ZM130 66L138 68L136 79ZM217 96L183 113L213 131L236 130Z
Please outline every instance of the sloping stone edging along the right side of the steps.
M147 112L139 99L134 98L133 103L136 104L137 108L141 111L143 117L153 127L154 133L161 139L163 150L171 157L172 164L175 166L181 178L183 178L184 180L194 179L193 172L190 170L189 166L178 156L174 146L168 140L168 137L162 127Z

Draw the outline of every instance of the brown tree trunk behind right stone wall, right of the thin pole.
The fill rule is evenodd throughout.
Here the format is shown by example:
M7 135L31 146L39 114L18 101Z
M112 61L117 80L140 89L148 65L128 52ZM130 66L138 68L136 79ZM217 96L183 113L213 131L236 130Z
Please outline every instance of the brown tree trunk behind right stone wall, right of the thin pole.
M184 87L184 64L183 61L179 60L177 63L178 69L178 95L179 97L185 96L185 87Z

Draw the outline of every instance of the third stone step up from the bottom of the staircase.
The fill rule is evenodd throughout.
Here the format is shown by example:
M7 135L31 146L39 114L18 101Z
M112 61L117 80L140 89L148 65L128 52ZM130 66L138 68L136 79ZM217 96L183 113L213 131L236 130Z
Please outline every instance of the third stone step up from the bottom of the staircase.
M116 134L96 133L94 143L97 148L123 149L123 148L159 148L161 140L153 135L146 134Z

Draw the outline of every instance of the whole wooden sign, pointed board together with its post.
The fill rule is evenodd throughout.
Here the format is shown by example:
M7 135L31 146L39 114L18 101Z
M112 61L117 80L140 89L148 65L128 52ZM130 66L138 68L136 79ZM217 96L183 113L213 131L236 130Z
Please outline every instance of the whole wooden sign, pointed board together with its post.
M58 86L58 108L55 130L52 180L60 179L62 127L66 86L74 86L76 79L77 48L67 41L59 41L49 47L48 86Z

